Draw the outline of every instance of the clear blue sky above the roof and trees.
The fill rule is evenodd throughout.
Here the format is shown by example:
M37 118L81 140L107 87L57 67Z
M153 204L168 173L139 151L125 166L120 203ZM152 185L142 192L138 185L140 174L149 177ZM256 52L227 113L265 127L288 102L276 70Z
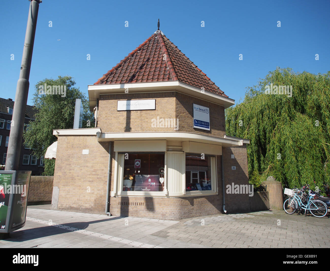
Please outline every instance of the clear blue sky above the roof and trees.
M1 3L2 98L15 100L29 4L28 0ZM32 105L39 80L58 75L74 77L87 95L87 85L157 30L158 18L162 32L238 103L247 86L277 66L312 73L330 70L329 10L330 1L43 0L28 104Z

